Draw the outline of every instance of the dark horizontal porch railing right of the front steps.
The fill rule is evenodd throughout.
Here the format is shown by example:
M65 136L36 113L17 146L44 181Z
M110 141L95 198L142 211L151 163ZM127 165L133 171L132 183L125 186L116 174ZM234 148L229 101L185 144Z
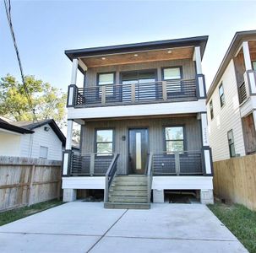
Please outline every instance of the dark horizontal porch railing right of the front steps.
M153 175L203 175L201 151L153 153Z

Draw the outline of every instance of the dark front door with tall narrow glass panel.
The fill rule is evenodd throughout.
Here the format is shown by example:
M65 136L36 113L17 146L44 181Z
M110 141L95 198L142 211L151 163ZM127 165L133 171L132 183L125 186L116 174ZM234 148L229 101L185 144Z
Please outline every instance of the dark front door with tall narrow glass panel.
M129 174L144 174L149 153L147 128L129 129Z

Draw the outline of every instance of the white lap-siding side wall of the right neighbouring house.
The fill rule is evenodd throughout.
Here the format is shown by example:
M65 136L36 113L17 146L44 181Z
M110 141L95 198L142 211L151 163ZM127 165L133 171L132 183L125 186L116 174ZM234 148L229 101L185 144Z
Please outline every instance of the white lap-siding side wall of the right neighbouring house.
M225 105L221 108L219 85L223 84ZM210 100L207 104L210 147L212 148L213 160L229 159L227 132L233 130L236 153L245 155L242 136L242 121L239 110L237 94L237 80L234 62L231 60L223 73L221 82L216 87L210 100L213 102L214 119L210 119Z

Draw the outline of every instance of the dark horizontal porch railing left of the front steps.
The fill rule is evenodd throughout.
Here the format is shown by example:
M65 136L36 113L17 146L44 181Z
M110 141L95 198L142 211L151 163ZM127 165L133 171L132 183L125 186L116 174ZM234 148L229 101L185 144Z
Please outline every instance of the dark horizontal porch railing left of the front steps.
M113 153L72 153L70 175L106 175L113 156Z

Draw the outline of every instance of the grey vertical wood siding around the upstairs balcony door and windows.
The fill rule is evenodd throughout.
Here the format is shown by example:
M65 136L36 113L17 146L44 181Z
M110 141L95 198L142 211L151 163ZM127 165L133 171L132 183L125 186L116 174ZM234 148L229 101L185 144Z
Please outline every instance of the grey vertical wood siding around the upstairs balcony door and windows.
M157 81L161 81L161 67L178 67L182 66L182 73L184 79L195 78L194 62L191 59L175 60L175 61L161 61L161 62L145 62L137 64L114 65L106 67L90 67L86 72L85 85L87 87L95 86L97 84L97 73L116 73L116 83L121 83L120 73L125 71L142 70L142 69L156 69Z

